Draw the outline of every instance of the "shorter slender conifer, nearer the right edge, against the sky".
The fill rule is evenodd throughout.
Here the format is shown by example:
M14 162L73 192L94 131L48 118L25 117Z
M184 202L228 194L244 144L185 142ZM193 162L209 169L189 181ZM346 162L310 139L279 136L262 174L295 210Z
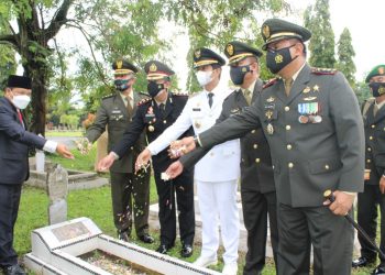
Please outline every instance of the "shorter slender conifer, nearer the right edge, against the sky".
M337 68L342 72L352 88L355 88L355 65L353 57L355 52L352 45L352 36L348 28L343 29L338 42L338 64Z

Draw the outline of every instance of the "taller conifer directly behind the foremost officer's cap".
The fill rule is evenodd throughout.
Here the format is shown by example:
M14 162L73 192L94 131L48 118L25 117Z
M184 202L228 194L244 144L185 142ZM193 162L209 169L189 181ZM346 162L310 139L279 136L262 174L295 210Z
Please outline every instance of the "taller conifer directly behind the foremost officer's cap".
M305 28L311 32L309 64L334 68L334 33L330 23L329 0L317 0L304 13Z

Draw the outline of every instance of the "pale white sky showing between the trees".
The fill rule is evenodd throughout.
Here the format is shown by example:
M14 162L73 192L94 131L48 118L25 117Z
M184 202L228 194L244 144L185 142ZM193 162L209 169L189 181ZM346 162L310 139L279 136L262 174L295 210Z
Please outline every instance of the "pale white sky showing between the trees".
M298 14L300 14L307 6L315 2L315 0L286 1L292 4L295 13L283 15L280 19L297 24L302 24L302 16ZM355 51L355 77L358 80L362 80L371 68L378 64L385 64L385 35L381 32L385 21L385 0L329 0L329 3L331 25L334 31L336 43L338 42L343 29L348 28L351 32L352 44ZM174 37L174 46L168 53L170 56L169 59L173 61L173 64L169 65L176 72L179 86L182 90L184 90L187 78L186 72L189 65L186 62L186 54L188 51L186 41L188 38L183 34L180 28L176 28L173 24L169 24L167 30L167 32L162 32L161 35L165 35L165 38ZM68 37L72 37L72 40L68 40ZM57 41L68 47L81 46L85 51L88 51L85 40L79 33L74 33L74 31L59 32ZM75 72L76 61L72 61L72 67ZM229 79L227 67L228 66L224 67L224 74L222 74L226 78L224 80Z

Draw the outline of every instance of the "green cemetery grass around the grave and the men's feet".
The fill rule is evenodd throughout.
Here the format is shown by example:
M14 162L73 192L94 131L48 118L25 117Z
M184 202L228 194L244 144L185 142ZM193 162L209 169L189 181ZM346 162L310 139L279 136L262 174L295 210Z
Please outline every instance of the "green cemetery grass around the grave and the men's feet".
M56 155L50 155L51 161L61 163L65 168L79 169L79 170L94 170L95 162L95 147L91 150L89 155L80 155L76 150L73 151L76 160L63 160ZM103 174L108 177L108 174ZM151 180L151 198L152 204L157 201L156 187L154 179ZM23 255L31 251L31 231L37 228L46 227L48 224L47 217L48 198L45 190L36 189L32 187L24 186L21 204L19 210L19 218L15 224L14 231L14 248L19 255ZM73 190L68 194L68 219L75 219L79 217L90 218L105 234L116 237L117 232L112 221L112 208L111 208L111 195L110 187L103 186L95 189L87 190ZM144 244L136 240L135 233L132 233L132 241L138 245L144 246L150 250L155 250L160 245L160 232L151 230L151 234L155 238L155 243ZM168 253L172 256L182 258L179 255L180 242L179 239L176 240L175 248ZM194 248L194 254L189 258L182 258L187 262L194 262L200 253L200 244L196 243ZM216 266L210 266L210 268L216 271L221 271L223 267L223 262L221 255L223 250L219 253L219 263ZM239 258L239 272L242 274L244 265L244 254L240 253ZM359 268L352 272L354 275L370 274L374 268ZM0 272L1 274L1 272ZM263 271L263 275L274 275L274 262L267 258L266 266Z

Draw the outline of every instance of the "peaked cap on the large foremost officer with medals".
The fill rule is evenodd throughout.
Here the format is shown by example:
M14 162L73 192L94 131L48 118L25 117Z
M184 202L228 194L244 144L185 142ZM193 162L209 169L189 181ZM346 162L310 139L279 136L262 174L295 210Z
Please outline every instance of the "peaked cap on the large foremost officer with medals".
M287 22L282 19L267 19L261 28L262 37L265 44L262 50L266 51L270 43L286 40L298 38L302 42L311 37L311 33L304 26Z

